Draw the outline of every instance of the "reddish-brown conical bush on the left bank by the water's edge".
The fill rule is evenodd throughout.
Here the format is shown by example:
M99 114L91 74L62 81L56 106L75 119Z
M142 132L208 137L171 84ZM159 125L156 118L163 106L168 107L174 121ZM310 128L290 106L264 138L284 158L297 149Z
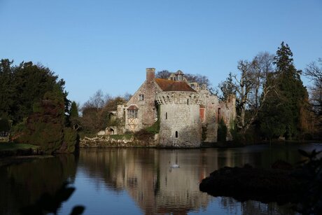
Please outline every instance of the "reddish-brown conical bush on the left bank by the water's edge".
M64 127L64 95L56 89L45 92L43 100L34 104L34 113L16 130L15 141L39 146L44 153L73 152L76 132Z

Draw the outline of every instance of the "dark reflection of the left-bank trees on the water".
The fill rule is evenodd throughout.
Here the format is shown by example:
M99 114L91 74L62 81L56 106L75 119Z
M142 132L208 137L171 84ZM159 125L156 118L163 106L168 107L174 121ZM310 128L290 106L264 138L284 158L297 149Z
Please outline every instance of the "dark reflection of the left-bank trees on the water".
M0 214L18 214L44 193L53 195L67 179L73 182L75 175L74 155L0 167Z

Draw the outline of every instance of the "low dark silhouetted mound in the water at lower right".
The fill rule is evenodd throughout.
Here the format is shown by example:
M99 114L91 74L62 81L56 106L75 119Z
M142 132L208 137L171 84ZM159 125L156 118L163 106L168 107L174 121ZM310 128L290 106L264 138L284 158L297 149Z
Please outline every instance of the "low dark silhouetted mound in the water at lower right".
M285 169L257 169L244 167L223 167L202 180L200 190L214 196L229 196L244 202L297 202L302 181Z

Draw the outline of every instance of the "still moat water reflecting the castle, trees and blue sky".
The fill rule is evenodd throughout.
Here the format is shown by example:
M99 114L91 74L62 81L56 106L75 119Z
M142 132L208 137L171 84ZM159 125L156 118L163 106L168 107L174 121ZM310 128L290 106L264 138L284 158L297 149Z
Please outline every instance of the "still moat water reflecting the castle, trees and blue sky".
M18 214L43 193L54 194L64 181L76 190L60 205L59 214L69 214L79 204L84 214L295 214L275 203L212 197L200 192L199 183L225 166L249 163L266 168L278 159L295 163L304 159L297 148L322 150L322 145L81 149L78 156L0 167L0 214Z

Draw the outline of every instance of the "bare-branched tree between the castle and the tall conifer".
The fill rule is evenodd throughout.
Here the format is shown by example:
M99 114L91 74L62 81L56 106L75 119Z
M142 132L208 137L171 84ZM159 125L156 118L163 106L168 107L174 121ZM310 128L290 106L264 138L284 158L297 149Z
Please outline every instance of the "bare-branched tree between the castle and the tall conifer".
M269 53L259 53L253 60L240 60L237 64L239 75L229 74L226 81L219 85L225 100L230 94L236 94L237 127L242 134L258 120L258 113L262 109L267 95L275 89L273 56Z

